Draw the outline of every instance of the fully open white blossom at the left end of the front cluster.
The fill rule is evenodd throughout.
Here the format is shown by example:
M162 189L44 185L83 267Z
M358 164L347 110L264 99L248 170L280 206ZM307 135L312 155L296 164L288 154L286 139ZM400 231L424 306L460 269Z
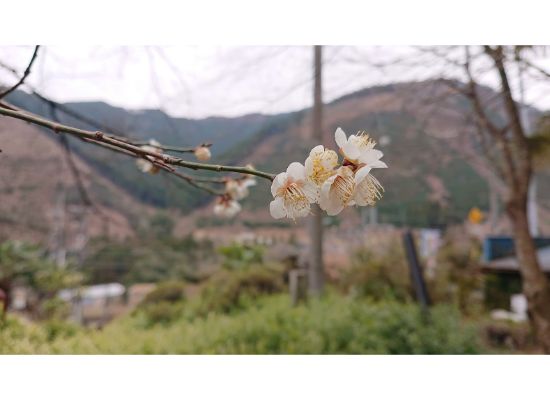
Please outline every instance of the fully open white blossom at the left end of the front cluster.
M278 174L271 184L271 194L275 198L269 204L273 218L306 217L310 203L317 197L315 185L306 179L305 168L298 162L291 163L286 172Z

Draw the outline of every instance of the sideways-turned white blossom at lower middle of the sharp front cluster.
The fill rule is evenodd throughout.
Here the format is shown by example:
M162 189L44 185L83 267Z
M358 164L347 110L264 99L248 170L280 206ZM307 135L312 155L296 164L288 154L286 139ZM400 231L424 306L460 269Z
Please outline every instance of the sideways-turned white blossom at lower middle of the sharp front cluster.
M337 215L345 207L355 204L356 181L353 169L342 166L321 186L319 206L328 215Z

